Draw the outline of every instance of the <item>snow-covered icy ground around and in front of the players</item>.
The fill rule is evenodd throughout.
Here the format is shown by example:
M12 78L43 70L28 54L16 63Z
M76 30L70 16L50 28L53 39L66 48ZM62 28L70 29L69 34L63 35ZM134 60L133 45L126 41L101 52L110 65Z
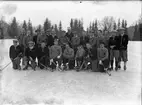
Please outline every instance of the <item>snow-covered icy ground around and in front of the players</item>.
M12 40L0 41L0 67L10 62ZM0 104L140 105L142 43L129 42L127 71L96 72L13 70L0 73Z

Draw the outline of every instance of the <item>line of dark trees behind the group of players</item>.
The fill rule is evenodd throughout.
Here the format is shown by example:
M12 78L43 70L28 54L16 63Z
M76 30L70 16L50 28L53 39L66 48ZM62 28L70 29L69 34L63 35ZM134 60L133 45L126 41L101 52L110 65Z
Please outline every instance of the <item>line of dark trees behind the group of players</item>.
M140 27L142 26L142 23L137 23L134 27L134 37L130 37L130 40L140 40ZM82 32L85 31L84 26L83 26L83 19L71 19L69 23L69 27L71 31L76 31L77 34L80 36L82 35ZM112 16L106 16L102 20L95 20L93 22L90 22L86 32L94 32L97 34L97 31L101 29L103 32L111 32L112 30L117 30L120 27L123 27L127 29L127 20L124 19L118 19L117 21L114 19ZM5 36L9 36L10 38L14 38L18 35L20 35L20 32L22 28L27 32L27 30L31 31L31 34L34 35L35 29L38 29L40 31L44 31L46 34L46 31L48 29L54 29L56 32L56 35L58 37L61 36L63 27L62 27L62 21L60 21L58 24L52 24L51 20L48 18L45 19L44 23L38 26L33 26L31 20L29 19L28 21L24 20L23 23L18 23L16 17L12 19L10 23L5 22L4 20L0 20L0 29L5 30L6 32L3 34L0 34L0 39L5 38Z

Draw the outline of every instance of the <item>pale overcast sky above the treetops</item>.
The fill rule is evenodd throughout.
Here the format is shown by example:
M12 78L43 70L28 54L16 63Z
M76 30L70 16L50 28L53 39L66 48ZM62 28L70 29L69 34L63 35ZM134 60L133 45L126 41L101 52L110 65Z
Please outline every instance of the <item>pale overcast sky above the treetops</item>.
M8 5L8 6L7 6ZM101 20L104 16L114 16L115 19L127 20L128 26L138 20L141 14L140 1L105 1L95 3L93 1L12 1L0 2L0 13L6 21L16 17L19 22L30 18L33 25L43 24L48 17L51 22L59 23L62 20L63 28L69 26L71 18L82 18L84 27L94 19ZM3 9L3 10L2 10Z

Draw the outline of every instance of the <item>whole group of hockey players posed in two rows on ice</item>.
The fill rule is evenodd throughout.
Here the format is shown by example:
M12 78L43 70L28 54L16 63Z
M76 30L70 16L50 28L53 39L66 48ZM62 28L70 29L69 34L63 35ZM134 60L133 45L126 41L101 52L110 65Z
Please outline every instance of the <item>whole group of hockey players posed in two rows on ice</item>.
M23 30L18 40L13 40L9 51L13 69L21 69L22 58L22 64L25 65L23 70L29 66L33 67L36 59L40 69L50 67L51 70L55 70L57 66L63 66L64 70L113 70L115 60L116 71L121 68L121 61L124 62L123 69L126 70L128 35L123 28L113 30L109 37L103 35L101 30L97 35L86 35L83 32L78 36L69 29L67 33L63 31L61 37L57 37L52 30L48 30L46 34L39 30L35 32L32 36L30 31L25 34ZM30 61L34 63L30 64ZM99 64L104 66L103 70L99 69Z

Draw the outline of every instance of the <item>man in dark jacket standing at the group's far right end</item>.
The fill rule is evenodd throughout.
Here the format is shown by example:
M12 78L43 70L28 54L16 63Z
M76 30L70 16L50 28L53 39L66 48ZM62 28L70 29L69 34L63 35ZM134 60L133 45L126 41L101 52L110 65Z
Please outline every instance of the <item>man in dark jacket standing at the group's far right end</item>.
M124 62L124 70L126 70L126 63L128 61L128 57L127 57L127 45L128 45L128 35L125 34L125 29L121 28L119 29L120 32L120 59L119 59L119 67L121 60Z

